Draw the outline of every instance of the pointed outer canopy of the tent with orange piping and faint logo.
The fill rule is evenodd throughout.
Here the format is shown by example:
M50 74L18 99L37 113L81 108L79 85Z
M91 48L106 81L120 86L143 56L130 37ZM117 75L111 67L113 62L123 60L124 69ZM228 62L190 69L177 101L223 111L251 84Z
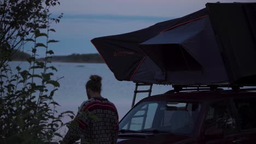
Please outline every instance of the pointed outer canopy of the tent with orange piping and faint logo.
M170 83L166 81L165 71L162 71L146 55L139 47L139 44L155 37L168 28L182 25L184 22L207 14L207 9L205 8L178 19L156 23L139 31L95 38L91 40L91 43L95 45L109 69L118 80Z

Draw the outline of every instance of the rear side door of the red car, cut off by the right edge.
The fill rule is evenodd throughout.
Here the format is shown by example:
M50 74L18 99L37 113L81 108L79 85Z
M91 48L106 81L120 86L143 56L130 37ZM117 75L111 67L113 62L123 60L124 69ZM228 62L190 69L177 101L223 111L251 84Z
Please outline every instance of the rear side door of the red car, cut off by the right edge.
M237 143L256 142L256 97L234 98L240 123L240 140Z

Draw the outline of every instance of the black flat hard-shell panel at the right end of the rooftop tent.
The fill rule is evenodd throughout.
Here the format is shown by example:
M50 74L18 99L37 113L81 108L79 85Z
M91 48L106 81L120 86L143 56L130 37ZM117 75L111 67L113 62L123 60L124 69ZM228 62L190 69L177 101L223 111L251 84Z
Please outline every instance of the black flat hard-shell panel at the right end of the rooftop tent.
M256 83L256 3L207 3L231 83Z

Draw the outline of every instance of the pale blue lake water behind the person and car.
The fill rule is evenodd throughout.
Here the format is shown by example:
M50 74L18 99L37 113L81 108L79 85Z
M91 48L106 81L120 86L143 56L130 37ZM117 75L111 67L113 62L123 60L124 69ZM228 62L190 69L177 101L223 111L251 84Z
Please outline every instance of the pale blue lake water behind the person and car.
M15 68L20 65L22 69L26 69L27 62L11 62L10 66ZM119 119L131 109L133 91L135 83L131 81L118 81L114 74L110 71L106 64L99 63L59 63L53 62L57 72L53 79L59 79L60 88L55 92L55 100L61 105L58 111L71 110L77 113L78 106L87 100L85 92L85 83L89 80L90 75L100 75L102 77L102 97L109 99L118 109ZM40 71L36 71L40 73ZM149 87L141 87L140 89L148 89ZM165 93L172 89L171 86L153 85L152 95ZM147 93L138 93L137 101L146 98ZM68 117L63 119L64 122L70 121Z

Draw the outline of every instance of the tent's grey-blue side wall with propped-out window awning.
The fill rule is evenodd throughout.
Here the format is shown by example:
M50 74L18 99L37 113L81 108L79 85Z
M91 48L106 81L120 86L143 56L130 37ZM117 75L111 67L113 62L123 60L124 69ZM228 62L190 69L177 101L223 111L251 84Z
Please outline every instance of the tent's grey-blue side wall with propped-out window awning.
M168 29L140 46L173 84L229 82L209 16Z

